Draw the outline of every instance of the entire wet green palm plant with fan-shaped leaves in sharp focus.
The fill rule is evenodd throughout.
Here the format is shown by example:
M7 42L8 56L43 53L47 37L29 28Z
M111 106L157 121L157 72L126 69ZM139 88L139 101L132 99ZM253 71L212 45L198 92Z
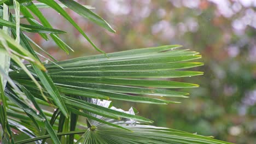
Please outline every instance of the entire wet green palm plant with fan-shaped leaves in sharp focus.
M0 30L0 50L4 56L4 63L0 65L0 140L3 143L14 143L14 129L31 137L16 143L45 143L48 138L54 143L227 143L150 126L148 124L153 121L135 115L134 107L127 112L113 107L109 101L178 103L172 97L185 98L188 93L172 88L198 87L174 81L176 77L202 75L200 71L187 70L202 65L190 62L201 58L198 52L178 49L179 45L167 45L106 55L63 9L69 8L98 26L115 32L90 10L90 6L72 0L61 0L62 4L52 0L39 2L42 3L30 0L0 2L0 26L3 27L3 31ZM8 8L13 8L15 14L11 14ZM73 51L57 35L65 32L53 28L39 8L55 9L103 54L56 62L53 56L24 34L24 31L39 33L45 40L53 39L63 51ZM20 23L24 18L30 25ZM42 64L38 56L43 56L34 51L31 44L53 59L49 59L52 63ZM24 59L27 64L23 63ZM6 87L2 79L8 81ZM54 111L47 111L45 107ZM79 116L86 118L78 121Z

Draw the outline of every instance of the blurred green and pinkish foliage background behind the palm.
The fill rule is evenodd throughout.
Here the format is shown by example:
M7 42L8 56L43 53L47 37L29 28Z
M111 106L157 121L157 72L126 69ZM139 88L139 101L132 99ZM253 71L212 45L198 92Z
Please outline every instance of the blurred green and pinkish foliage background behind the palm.
M78 1L96 7L94 11L117 31L107 32L93 23L80 19L71 11L78 25L95 44L106 52L133 47L180 44L202 53L205 75L189 77L187 82L200 88L184 89L190 99L181 104L135 106L141 116L155 125L212 135L235 143L256 141L256 1L255 0L143 0L143 1ZM92 55L97 51L55 11L45 9L45 16L56 28L69 34L62 39L75 52L68 56L35 34L41 44L59 60ZM179 81L184 81L179 79Z

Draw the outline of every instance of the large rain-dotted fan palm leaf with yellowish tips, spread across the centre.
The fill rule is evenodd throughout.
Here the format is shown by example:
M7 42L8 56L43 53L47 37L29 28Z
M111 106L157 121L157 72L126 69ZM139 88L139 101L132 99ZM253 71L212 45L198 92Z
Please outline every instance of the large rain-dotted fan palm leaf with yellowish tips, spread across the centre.
M63 94L71 94L72 91L72 95L84 95L84 97L87 95L89 95L88 97L94 97L93 95L95 94L95 97L101 97L102 99L167 104L171 101L144 97L143 94L162 97L185 97L187 93L162 88L188 88L198 87L198 85L152 79L202 74L199 71L179 70L197 67L202 63L184 62L200 58L200 55L197 55L197 52L188 50L174 50L174 47L150 47L139 49L139 51L133 50L134 52L109 53L109 58L104 57L104 55L97 55L95 59L90 59L91 57L89 56L57 62L63 69L56 67L54 64L46 64L45 67L48 69L48 73L55 85ZM120 55L117 55L119 53ZM146 54L142 55L141 53ZM80 67L78 68L77 65L80 65ZM164 68L162 68L163 65ZM166 65L169 67L165 67ZM109 68L104 69L105 67ZM123 69L124 67L127 70ZM147 67L148 69L146 69ZM16 75L14 71L10 73L10 76L27 87L33 87L33 83L27 80L27 76L22 75L22 72ZM152 79L145 79L149 77ZM84 94L81 94L82 92ZM137 94L137 96L133 94Z

